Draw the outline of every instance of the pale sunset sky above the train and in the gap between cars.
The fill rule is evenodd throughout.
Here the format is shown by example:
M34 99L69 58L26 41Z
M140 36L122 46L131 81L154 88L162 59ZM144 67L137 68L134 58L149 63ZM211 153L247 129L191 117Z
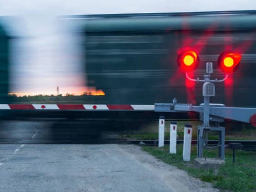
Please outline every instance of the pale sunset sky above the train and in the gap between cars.
M175 2L175 3L174 3ZM80 39L57 16L256 9L254 0L0 0L11 42L10 92L82 94L86 87ZM101 92L101 90L98 90Z

